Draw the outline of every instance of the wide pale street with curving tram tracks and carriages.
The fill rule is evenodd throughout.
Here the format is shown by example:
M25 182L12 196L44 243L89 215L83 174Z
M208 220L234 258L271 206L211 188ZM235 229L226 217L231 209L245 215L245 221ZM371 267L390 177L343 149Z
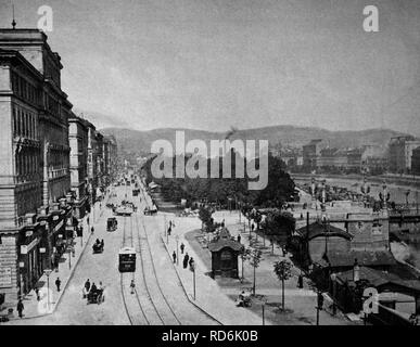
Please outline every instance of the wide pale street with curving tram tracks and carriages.
M192 305L187 298L171 259L161 244L160 220L142 214L144 198L132 197L129 187L114 188L117 200L132 200L138 213L131 217L117 217L118 228L106 231L106 219L112 210L104 208L97 220L94 235L90 239L80 261L54 313L41 318L15 320L12 324L158 324L189 325L217 324L217 321ZM163 226L162 226L163 228ZM104 240L104 252L93 254L92 244ZM120 274L118 250L122 246L137 250L136 272ZM105 300L101 305L87 304L82 287L87 280L102 281ZM135 294L129 284L135 280Z

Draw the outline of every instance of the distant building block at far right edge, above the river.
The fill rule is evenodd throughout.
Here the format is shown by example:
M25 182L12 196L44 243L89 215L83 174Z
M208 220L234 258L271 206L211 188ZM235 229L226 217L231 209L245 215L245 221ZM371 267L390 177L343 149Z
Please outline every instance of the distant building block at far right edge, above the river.
M412 150L420 146L420 140L413 137L392 138L389 144L390 171L395 174L410 172Z

